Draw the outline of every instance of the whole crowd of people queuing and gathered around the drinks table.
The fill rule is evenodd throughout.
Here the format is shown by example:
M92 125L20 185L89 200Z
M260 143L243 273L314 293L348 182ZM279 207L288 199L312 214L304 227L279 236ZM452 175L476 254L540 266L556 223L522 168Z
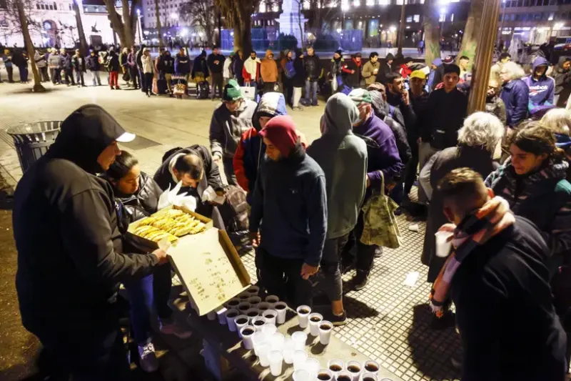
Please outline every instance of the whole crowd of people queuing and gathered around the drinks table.
M551 67L537 56L526 76L502 54L491 68L486 112L468 115L468 57L428 67L390 54L345 60L337 51L325 67L311 47L305 53L285 51L278 62L272 51L262 60L253 52L244 60L215 47L191 66L184 49L174 58L160 51L154 61L144 46L109 51L111 89L118 89L119 71L149 97L156 73L166 91L175 90L173 76L210 78L212 97L222 100L210 147L171 149L151 177L118 149L134 136L110 114L95 105L72 113L14 196L24 326L79 379L123 380L128 368L116 318L122 282L141 367L156 370L150 310L161 332L190 332L166 309L166 253L138 251L125 232L156 212L161 192L178 183L219 229L230 224L224 205L204 202L203 194L241 189L261 287L293 307L312 306L312 277L320 273L330 300L325 315L344 325L341 275L355 269L345 287L367 287L383 255L376 237L394 227L377 201L389 195L395 214L427 219L420 260L433 284L432 327L458 327L462 380L564 380L571 357L571 112L557 106L571 92L571 59ZM54 84L74 84L74 69L59 66L68 54L52 54ZM96 52L74 57L76 74L98 72ZM315 125L321 137L308 142L287 105L300 109L305 93L305 104L318 106L319 81L332 94ZM248 84L261 94L246 97ZM410 197L414 184L418 197ZM437 254L436 233L450 235L448 255Z

